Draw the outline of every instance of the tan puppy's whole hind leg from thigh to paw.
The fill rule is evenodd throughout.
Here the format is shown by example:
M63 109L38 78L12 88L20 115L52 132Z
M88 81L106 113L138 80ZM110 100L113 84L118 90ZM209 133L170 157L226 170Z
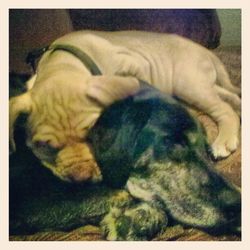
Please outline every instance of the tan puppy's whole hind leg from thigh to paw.
M196 60L198 63L188 69L184 64L178 65L182 70L176 76L173 94L207 113L217 122L218 136L212 144L212 153L216 159L224 158L237 149L240 120L229 103L220 97L222 91L218 93L219 86L216 82L218 78L222 78L218 75L218 69L206 58L198 57ZM193 63L189 58L184 61ZM229 90L225 89L223 93L226 91Z

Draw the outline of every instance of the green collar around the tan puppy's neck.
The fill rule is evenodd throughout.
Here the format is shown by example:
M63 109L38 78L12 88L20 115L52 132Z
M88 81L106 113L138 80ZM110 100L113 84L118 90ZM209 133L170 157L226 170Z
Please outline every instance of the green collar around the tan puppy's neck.
M50 46L33 50L28 53L28 56L26 58L26 63L30 64L33 70L35 71L36 60L40 58L46 51L51 51L53 53L56 50L63 50L77 57L91 72L92 75L102 74L98 66L95 64L95 62L85 52L83 52L82 50L73 45L67 45L67 44L52 44Z

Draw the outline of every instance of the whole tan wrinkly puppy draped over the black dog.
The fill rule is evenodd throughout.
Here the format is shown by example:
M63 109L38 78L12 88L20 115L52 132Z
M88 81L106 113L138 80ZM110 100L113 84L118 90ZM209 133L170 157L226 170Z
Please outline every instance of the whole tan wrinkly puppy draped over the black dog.
M217 122L215 158L236 150L240 91L207 49L176 35L138 31L80 31L53 44L82 50L103 76L91 75L72 53L47 51L27 84L28 92L10 100L10 142L14 149L14 123L27 113L27 144L62 179L101 178L84 138L105 106L139 89L137 79L194 105ZM86 162L92 166L88 170Z

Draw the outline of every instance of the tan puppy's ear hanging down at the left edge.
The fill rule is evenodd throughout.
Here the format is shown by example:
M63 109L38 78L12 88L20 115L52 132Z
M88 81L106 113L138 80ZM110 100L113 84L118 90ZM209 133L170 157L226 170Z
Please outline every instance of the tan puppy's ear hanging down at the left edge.
M9 145L10 153L16 150L14 141L14 125L20 114L28 114L31 110L31 97L27 92L17 97L13 97L9 101Z

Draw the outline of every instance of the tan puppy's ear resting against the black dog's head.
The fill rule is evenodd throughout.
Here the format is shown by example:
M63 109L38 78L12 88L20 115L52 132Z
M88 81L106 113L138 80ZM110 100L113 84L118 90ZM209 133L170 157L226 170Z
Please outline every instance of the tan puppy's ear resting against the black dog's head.
M135 94L139 88L139 81L134 77L95 76L88 82L87 96L108 106Z

